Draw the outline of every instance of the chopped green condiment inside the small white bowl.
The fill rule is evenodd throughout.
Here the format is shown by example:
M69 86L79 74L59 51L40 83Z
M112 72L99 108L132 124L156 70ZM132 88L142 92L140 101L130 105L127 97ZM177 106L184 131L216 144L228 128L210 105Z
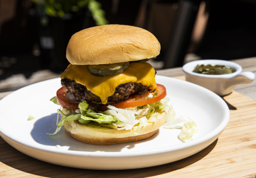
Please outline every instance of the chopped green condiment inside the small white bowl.
M195 66L195 69L193 69L193 72L196 72L198 74L209 74L209 75L221 75L221 74L231 74L235 72L235 69L224 66L224 65L197 65Z

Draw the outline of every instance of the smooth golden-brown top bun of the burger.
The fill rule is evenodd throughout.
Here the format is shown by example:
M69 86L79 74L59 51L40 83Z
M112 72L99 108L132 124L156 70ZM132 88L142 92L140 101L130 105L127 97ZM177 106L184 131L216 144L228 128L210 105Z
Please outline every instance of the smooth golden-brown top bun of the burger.
M154 58L160 43L147 30L124 25L86 28L75 33L67 46L68 62L95 65Z

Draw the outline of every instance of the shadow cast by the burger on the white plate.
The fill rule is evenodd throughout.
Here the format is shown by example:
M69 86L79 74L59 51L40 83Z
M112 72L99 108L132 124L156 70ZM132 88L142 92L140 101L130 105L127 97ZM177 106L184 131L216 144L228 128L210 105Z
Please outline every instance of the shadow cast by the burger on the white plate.
M72 151L103 151L103 152L120 152L124 148L132 149L136 144L141 142L150 141L154 139L159 131L151 136L148 139L143 141L131 142L126 144L117 144L117 145L92 145L86 144L76 139L73 139L66 131L63 126L61 131L55 135L48 135L54 133L57 128L57 113L54 113L49 116L42 117L34 123L33 129L31 131L32 138L39 144L52 146L56 149L61 150L72 150ZM58 145L58 146L57 146ZM60 146L59 146L60 145Z

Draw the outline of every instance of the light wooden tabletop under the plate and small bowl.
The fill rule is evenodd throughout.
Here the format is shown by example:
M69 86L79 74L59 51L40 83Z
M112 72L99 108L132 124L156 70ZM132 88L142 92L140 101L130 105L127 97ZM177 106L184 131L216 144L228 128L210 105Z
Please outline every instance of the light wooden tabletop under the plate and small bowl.
M235 62L243 71L256 73L256 58ZM158 75L184 80L181 68L160 70ZM16 75L0 81L0 98L23 85L58 77L38 71L28 80ZM256 81L238 85L223 98L230 108L230 122L220 137L191 157L161 166L134 170L82 170L36 160L8 145L0 137L2 177L255 177L256 176ZM1 123L0 123L1 124Z

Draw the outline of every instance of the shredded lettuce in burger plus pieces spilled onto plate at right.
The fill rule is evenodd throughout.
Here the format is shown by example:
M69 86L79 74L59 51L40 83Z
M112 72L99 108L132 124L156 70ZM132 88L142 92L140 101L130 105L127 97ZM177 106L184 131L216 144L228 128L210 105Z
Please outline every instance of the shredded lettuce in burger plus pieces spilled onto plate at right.
M58 104L56 97L51 98L51 101ZM57 129L53 134L49 135L57 134L61 130L64 123L68 120L77 120L82 124L98 122L100 125L118 130L129 130L132 129L133 126L137 125L138 129L134 133L136 135L139 133L140 129L146 125L146 123L155 122L161 113L166 112L167 122L164 124L164 128L181 129L179 135L180 140L183 142L190 141L193 134L195 134L198 130L196 123L193 122L192 119L189 119L189 117L176 117L173 107L169 106L167 101L168 99L164 98L163 100L152 104L129 107L126 109L119 109L117 107L108 105L108 110L105 112L95 112L95 109L89 106L86 101L79 103L79 109L74 111L61 107L57 110ZM58 121L59 115L62 116L60 121Z

